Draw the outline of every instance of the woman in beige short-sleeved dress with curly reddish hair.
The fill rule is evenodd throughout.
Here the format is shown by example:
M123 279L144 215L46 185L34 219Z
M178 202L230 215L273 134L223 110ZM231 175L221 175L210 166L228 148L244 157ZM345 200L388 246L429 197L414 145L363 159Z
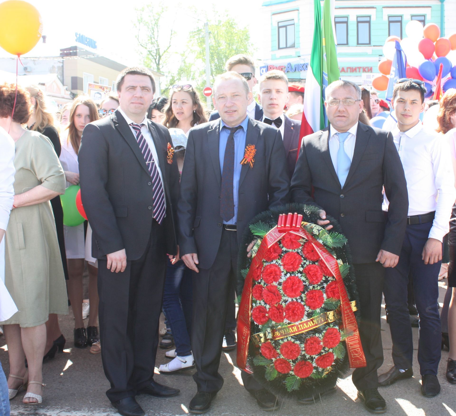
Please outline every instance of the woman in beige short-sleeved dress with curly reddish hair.
M27 385L25 404L42 401L41 365L50 313L68 311L65 277L49 200L65 191L65 175L51 142L21 126L30 117L22 87L0 85L0 126L15 141L14 203L5 236L5 286L19 309L4 325L10 399ZM28 362L28 374L24 358Z

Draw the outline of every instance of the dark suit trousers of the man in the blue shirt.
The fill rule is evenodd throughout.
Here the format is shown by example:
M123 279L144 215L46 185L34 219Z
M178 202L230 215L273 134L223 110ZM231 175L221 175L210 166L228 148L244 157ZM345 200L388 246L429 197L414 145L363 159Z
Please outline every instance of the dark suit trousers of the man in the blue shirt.
M238 253L237 231L223 229L212 267L193 272L192 351L197 368L193 379L198 391L217 392L223 386L218 367L228 303L234 303L230 288L236 282ZM242 371L241 376L247 390L263 389L252 375Z

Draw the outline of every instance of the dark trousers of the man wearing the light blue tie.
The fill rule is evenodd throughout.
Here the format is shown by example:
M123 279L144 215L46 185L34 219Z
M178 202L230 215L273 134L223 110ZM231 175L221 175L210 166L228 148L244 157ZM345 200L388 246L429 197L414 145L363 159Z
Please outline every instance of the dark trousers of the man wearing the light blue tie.
M353 264L353 267L360 303L359 335L367 366L355 369L352 381L358 390L376 389L377 370L383 364L380 312L385 269L379 262Z

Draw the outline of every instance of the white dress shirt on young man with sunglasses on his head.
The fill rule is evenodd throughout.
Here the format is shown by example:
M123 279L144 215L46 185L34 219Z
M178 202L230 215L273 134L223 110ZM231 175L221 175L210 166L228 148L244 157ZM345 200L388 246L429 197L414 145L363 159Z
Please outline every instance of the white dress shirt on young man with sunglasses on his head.
M391 133L407 180L409 216L435 211L429 238L443 241L456 198L450 147L441 134L425 130L420 122L406 132L396 126Z

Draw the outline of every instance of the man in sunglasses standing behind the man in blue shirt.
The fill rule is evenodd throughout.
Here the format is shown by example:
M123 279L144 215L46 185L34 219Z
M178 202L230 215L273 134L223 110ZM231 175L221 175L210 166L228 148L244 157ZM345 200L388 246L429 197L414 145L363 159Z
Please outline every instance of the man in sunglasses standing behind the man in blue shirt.
M253 92L253 88L258 81L255 78L255 64L250 56L244 55L243 53L232 56L226 62L225 69L242 75L249 84L250 92ZM263 108L254 100L253 96L247 106L247 115L250 118L259 121L263 118ZM215 109L209 116L209 121L217 120L218 118L220 118L220 114L218 113L218 110Z

